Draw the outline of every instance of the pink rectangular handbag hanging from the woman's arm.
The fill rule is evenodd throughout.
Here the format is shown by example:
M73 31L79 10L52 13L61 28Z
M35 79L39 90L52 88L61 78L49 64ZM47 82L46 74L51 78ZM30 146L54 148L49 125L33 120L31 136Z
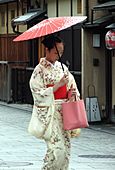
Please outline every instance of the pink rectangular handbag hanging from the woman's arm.
M64 130L88 127L84 100L62 103Z

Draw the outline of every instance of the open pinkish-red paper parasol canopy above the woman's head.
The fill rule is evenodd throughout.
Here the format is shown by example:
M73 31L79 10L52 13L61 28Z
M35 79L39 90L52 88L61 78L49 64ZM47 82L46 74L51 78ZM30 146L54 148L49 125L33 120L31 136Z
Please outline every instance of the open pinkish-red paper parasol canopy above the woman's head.
M13 41L24 41L52 34L86 20L86 16L48 18L34 25Z

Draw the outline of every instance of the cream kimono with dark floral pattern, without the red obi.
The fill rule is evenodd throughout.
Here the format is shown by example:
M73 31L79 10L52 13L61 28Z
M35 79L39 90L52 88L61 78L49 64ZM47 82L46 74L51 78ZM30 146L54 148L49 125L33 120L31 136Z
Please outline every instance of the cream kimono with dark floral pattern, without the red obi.
M64 70L69 74L67 90L73 84L79 96L73 75L65 65ZM63 75L60 62L56 61L53 65L41 58L30 79L34 107L37 108L34 111L37 111L38 118L46 125L42 138L46 141L48 149L42 170L67 170L69 165L71 131L63 129L61 103L64 99L55 100L53 87L47 88L48 84L59 82Z

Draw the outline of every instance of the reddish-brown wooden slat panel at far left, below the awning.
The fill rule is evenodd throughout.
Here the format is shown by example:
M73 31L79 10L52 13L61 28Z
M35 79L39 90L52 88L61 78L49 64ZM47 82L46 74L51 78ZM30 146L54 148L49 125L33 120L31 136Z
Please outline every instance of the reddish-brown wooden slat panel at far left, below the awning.
M13 42L12 35L0 36L0 60L28 61L28 42Z

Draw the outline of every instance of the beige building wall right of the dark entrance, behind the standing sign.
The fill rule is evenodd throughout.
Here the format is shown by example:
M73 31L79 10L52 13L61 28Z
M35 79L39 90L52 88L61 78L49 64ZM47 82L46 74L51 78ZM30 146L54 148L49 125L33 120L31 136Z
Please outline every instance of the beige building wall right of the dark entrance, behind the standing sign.
M89 21L91 20L91 9L97 5L97 0L89 3ZM101 17L98 12L96 17ZM100 34L100 47L93 47L93 34ZM105 84L105 49L104 49L103 30L84 30L83 34L83 52L82 52L82 95L83 98L88 96L88 86L95 86L95 95L98 97L100 109L106 105L106 84ZM93 65L93 59L99 60L99 66ZM114 85L113 85L114 86ZM93 88L90 88L90 95L93 96ZM104 106L104 107L103 107ZM102 115L103 117L103 115Z

